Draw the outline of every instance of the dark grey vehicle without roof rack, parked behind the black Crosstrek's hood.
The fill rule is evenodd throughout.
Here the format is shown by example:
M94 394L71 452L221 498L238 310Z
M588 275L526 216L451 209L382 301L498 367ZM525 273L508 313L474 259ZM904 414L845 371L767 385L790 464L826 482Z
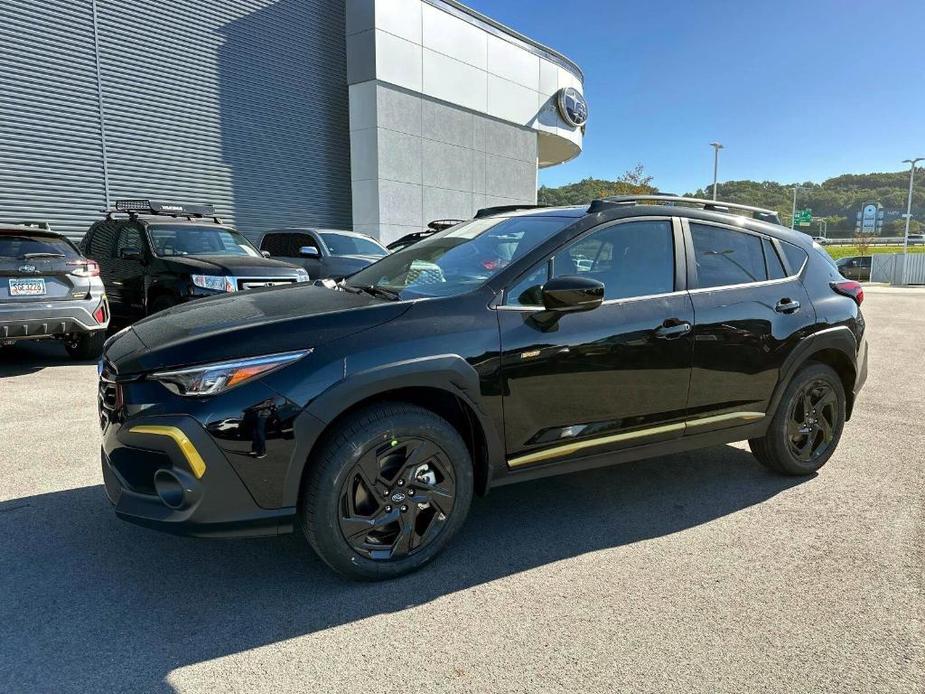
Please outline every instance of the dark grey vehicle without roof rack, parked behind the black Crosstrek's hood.
M341 279L389 254L376 239L354 231L272 229L247 236L269 256L305 268L313 280Z

